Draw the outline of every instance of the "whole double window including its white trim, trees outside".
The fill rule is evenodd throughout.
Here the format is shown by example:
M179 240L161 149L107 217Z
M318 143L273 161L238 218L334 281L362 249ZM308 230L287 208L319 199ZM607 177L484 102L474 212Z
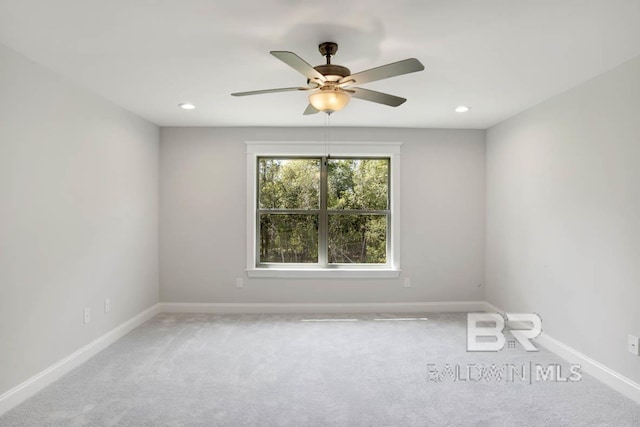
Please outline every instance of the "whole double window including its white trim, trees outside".
M399 144L319 145L247 143L249 275L397 277Z

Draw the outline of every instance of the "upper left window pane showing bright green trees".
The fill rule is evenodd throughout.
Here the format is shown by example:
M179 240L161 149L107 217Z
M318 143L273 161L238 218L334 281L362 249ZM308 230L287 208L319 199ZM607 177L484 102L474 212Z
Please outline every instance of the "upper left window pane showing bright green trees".
M258 160L260 209L318 209L320 159Z

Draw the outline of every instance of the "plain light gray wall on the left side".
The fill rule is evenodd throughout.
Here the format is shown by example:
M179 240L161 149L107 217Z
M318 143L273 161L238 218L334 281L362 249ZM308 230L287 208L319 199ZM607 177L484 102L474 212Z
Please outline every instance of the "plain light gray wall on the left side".
M157 302L158 129L2 45L0 64L2 394Z

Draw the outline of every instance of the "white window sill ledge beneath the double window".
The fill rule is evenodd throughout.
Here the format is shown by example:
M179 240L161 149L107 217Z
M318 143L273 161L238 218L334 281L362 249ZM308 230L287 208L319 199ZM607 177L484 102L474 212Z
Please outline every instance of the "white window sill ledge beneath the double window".
M291 279L395 279L402 270L397 269L310 269L310 268L252 268L249 277L275 277Z

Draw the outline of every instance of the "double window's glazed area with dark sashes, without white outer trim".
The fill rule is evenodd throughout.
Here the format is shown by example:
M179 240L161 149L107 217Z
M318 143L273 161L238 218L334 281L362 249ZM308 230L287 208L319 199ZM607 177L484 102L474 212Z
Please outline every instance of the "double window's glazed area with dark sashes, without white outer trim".
M258 158L257 265L387 264L389 158Z

